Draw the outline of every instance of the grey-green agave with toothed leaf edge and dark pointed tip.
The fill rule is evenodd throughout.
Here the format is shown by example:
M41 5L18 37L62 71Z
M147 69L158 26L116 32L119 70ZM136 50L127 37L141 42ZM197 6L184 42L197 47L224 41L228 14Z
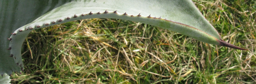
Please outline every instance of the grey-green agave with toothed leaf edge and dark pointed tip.
M0 8L0 74L3 78L9 77L5 73L10 75L24 70L21 49L32 30L89 18L114 18L151 24L204 43L245 50L223 41L190 0L4 0L0 2Z

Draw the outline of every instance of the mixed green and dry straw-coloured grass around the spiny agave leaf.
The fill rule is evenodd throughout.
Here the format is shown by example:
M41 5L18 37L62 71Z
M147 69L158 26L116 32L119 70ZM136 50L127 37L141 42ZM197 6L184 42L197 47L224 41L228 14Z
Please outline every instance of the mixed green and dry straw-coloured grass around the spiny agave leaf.
M209 45L156 26L86 19L32 31L12 83L256 83L255 1L194 1L223 40Z

